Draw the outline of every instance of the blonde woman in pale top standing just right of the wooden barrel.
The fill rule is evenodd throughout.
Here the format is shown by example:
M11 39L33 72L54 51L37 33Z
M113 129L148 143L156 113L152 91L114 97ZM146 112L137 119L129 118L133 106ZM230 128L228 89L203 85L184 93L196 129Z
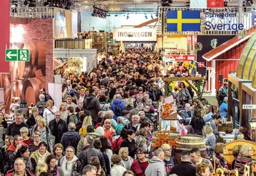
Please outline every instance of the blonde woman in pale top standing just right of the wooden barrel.
M215 134L213 134L213 130L210 125L208 124L204 125L203 129L206 134L205 145L206 145L207 156L212 157L212 154L215 150L216 137L215 137Z

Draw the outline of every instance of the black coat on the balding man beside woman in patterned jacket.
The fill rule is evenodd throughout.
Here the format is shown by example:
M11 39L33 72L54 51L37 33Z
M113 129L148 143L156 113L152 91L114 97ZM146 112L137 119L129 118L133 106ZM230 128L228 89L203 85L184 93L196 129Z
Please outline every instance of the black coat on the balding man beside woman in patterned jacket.
M56 132L54 132L54 125L58 125L58 133L56 134ZM61 141L61 137L64 133L67 132L68 128L67 128L67 123L60 119L58 123L56 123L56 120L51 120L49 122L49 128L51 130L51 134L54 134L55 136L55 143L59 143Z

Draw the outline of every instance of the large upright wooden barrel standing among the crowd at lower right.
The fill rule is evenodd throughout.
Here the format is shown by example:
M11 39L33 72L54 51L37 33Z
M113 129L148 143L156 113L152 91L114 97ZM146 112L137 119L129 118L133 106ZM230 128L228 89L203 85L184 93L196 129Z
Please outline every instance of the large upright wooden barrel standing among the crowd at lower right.
M179 147L174 147L172 156L174 163L177 165L181 160L182 151L190 151L193 148L198 148L201 151L201 156L206 157L205 138L201 135L182 135L177 141Z

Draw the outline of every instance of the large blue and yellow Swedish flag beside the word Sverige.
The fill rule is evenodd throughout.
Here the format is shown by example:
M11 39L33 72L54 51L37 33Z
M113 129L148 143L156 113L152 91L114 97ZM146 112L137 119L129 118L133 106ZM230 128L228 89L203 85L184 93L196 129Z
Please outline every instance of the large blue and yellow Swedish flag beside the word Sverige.
M167 31L200 31L200 11L167 11Z

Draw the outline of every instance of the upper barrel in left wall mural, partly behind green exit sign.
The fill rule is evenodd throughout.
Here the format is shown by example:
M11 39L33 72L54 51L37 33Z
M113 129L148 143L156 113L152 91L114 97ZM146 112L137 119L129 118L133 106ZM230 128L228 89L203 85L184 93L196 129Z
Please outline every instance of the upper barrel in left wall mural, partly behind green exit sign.
M26 46L27 47L27 46ZM24 48L26 48L24 47ZM34 71L41 69L43 75L46 70L46 44L29 43L29 62L18 63L18 78L26 79L34 77Z

